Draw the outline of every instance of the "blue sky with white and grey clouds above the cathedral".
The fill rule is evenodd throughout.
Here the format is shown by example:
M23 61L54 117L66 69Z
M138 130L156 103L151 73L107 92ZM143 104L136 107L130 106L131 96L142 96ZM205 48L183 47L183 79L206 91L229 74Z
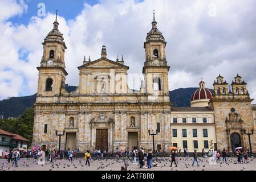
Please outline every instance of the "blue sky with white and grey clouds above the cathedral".
M78 85L84 55L98 59L103 44L109 59L124 55L129 75L140 79L155 9L167 42L170 90L197 87L201 78L213 88L219 73L229 83L239 73L256 98L254 0L0 0L0 100L36 93L41 43L56 9L68 48L66 84ZM139 81L131 80L129 87L138 89Z

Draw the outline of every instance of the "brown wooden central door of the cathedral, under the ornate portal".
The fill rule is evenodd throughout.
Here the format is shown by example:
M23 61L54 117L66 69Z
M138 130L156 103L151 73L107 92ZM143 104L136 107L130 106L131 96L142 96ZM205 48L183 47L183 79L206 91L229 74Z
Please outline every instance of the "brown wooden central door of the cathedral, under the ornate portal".
M108 129L96 129L96 150L108 151Z

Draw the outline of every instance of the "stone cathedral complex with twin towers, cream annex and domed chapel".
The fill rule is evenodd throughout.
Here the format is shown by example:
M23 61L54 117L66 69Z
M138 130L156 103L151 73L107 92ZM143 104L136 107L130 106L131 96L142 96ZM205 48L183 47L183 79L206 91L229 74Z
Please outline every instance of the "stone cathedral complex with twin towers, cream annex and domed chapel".
M200 88L192 95L191 107L172 106L166 42L157 29L155 13L144 43L144 81L137 91L128 88L129 67L123 57L109 60L107 48L103 46L99 59L84 59L78 67L78 88L67 92L64 57L67 47L58 26L56 15L54 28L42 43L33 146L40 144L44 149L58 149L59 137L55 132L64 131L60 140L63 149L152 148L151 130L151 133L157 131L155 146L161 151L170 146L190 151L249 147L243 130L255 130L256 109L251 105L253 100L242 77L235 77L229 90L229 84L218 76L213 93L201 81ZM255 151L255 135L251 137Z

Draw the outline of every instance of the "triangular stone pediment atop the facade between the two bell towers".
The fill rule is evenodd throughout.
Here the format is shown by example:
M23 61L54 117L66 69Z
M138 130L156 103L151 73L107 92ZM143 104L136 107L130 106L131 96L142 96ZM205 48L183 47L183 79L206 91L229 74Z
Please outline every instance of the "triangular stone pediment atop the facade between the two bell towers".
M129 67L123 64L120 64L120 63L117 63L116 61L112 61L105 58L101 58L78 67L78 69L80 68L127 68L129 69Z

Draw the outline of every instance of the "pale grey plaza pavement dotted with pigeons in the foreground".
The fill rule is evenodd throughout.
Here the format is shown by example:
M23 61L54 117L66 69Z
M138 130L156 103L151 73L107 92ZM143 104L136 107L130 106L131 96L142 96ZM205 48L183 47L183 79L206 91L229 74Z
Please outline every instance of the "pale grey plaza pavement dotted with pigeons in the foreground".
M91 160L91 166L85 166L83 159L74 159L74 162L64 160L55 160L54 164L46 162L45 165L37 164L37 160L33 159L20 159L18 161L18 167L11 166L11 163L7 163L6 160L0 159L0 171L120 171L121 166L124 166L124 159L98 159ZM249 163L239 164L237 158L227 158L227 163L214 163L212 158L198 158L200 160L200 167L197 164L192 166L193 158L177 158L177 166L173 164L170 167L170 158L155 158L154 163L158 164L158 167L152 167L151 169L139 168L136 164L132 164L131 160L128 161L127 171L255 171L256 159L249 158ZM222 160L222 159L221 159ZM138 162L137 162L138 163ZM144 166L145 167L145 166Z

